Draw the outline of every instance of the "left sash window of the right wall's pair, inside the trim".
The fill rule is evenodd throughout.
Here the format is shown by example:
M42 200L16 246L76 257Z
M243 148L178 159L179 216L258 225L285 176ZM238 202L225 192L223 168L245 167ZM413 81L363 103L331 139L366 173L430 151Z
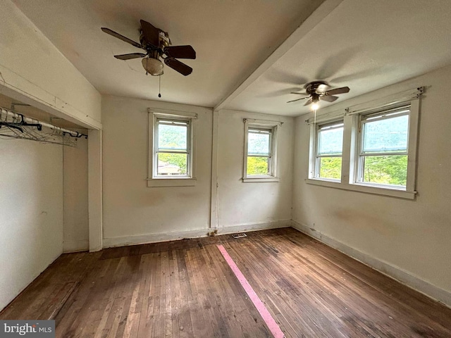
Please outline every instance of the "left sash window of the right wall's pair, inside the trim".
M342 121L317 127L314 178L341 180L342 146Z

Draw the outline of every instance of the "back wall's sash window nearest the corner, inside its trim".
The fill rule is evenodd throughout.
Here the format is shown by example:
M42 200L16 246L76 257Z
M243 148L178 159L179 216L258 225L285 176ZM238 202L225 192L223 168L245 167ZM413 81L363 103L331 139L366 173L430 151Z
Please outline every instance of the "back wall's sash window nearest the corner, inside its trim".
M246 176L273 176L273 128L248 128Z

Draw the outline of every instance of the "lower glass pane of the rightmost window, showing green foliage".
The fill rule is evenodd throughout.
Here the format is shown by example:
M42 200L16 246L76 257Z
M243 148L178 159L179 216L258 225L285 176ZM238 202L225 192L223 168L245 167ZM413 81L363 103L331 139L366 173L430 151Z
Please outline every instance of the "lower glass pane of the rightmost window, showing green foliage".
M363 182L406 186L407 155L364 156Z

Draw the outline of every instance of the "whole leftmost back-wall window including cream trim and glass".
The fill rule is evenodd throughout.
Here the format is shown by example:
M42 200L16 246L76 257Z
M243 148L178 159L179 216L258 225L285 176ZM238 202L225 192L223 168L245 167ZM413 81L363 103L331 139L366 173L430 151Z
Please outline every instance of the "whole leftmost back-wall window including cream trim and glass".
M192 113L149 109L148 187L195 184L195 118Z

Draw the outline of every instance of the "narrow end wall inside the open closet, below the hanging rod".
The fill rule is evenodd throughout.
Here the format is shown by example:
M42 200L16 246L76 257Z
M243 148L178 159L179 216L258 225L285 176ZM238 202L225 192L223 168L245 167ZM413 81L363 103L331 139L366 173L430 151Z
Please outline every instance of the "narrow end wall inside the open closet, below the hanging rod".
M64 244L63 250L89 248L87 139L77 139L77 146L63 147Z

